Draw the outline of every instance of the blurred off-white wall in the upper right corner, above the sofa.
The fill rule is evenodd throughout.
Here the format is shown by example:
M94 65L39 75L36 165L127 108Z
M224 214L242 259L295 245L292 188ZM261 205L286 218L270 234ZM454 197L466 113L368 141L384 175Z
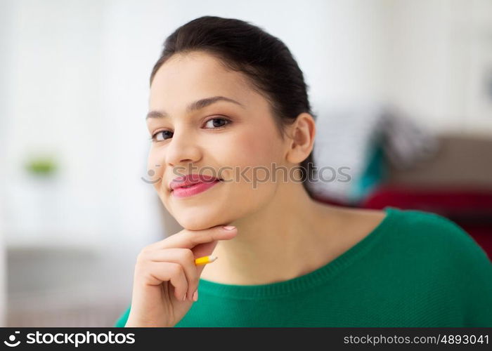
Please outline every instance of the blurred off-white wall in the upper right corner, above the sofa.
M386 1L389 98L436 131L492 133L492 1Z

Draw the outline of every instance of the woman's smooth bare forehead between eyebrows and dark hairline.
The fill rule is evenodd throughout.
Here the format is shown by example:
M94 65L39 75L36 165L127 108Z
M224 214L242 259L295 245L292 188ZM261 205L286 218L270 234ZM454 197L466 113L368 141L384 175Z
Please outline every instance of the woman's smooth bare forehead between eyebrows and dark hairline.
M240 72L226 69L207 53L177 54L156 72L150 87L150 107L168 109L183 102L222 95L244 104L259 96Z

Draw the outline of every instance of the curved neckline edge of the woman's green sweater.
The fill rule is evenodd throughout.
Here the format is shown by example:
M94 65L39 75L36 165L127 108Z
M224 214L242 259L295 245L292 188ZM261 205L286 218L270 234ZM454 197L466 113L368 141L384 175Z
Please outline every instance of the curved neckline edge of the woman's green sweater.
M354 261L375 246L377 241L381 239L382 234L391 228L391 223L394 222L400 210L392 206L386 206L383 208L383 211L386 212L386 216L361 241L358 241L334 260L309 273L287 279L283 282L255 285L222 284L200 278L198 289L200 293L207 293L214 296L247 299L272 298L312 289L313 286L322 284L327 279L335 276L344 267L354 263Z

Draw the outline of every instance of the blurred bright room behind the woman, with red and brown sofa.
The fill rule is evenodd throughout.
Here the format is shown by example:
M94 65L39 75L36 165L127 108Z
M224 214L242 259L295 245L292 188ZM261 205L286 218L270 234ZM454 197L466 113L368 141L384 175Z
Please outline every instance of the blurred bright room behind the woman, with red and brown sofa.
M491 256L492 0L0 0L1 326L112 326L180 230L142 180L148 79L202 15L292 51L316 166L349 167L320 201L440 213Z

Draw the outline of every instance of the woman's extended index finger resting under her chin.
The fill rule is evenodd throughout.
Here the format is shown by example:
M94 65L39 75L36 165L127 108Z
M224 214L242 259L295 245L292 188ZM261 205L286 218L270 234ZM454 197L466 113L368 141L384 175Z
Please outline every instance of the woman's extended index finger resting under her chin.
M183 230L160 241L157 247L160 249L183 248L192 249L198 244L204 244L214 240L228 240L235 237L238 229L226 230L222 226L208 230Z

